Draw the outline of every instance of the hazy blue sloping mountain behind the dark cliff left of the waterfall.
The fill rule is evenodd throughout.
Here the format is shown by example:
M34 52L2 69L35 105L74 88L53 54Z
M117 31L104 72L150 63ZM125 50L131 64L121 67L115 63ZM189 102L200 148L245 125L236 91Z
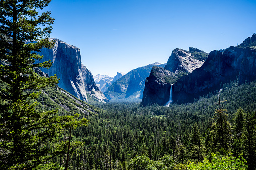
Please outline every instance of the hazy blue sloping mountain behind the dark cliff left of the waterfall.
M111 101L141 101L146 77L153 66L164 67L166 64L153 63L131 70L114 82L104 95Z

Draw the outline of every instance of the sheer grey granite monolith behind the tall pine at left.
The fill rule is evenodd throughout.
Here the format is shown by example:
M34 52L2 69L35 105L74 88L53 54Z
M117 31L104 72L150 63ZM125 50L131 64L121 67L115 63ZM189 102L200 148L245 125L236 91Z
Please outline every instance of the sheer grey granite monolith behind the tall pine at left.
M55 41L53 49L43 48L39 54L44 56L40 62L51 60L52 67L40 69L49 76L56 74L60 78L58 86L83 101L88 101L87 93L91 91L93 93L88 94L99 101L107 101L92 73L81 63L80 49L58 39L51 40Z

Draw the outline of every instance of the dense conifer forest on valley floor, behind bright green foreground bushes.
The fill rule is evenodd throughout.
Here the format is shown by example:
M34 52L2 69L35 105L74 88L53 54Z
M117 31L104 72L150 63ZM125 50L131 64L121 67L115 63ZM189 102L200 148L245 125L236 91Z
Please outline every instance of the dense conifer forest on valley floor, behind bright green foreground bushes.
M256 82L230 82L192 104L95 105L102 109L98 117L72 131L72 140L85 144L73 147L70 169L127 169L138 156L157 162L166 155L178 168L211 161L213 152L243 154L248 169L255 169L255 96Z

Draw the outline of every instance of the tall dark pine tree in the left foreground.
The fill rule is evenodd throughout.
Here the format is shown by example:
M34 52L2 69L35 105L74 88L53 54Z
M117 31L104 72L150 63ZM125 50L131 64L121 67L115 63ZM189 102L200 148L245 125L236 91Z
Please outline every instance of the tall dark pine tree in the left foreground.
M50 0L0 1L0 168L44 169L51 159L66 152L60 140L61 130L87 120L79 115L58 116L58 110L39 111L34 102L40 90L58 83L56 76L41 77L35 67L49 68L50 61L40 62L42 47L49 41L54 19L42 10ZM36 62L37 61L37 62ZM54 143L54 144L53 144ZM58 167L55 167L58 168Z

